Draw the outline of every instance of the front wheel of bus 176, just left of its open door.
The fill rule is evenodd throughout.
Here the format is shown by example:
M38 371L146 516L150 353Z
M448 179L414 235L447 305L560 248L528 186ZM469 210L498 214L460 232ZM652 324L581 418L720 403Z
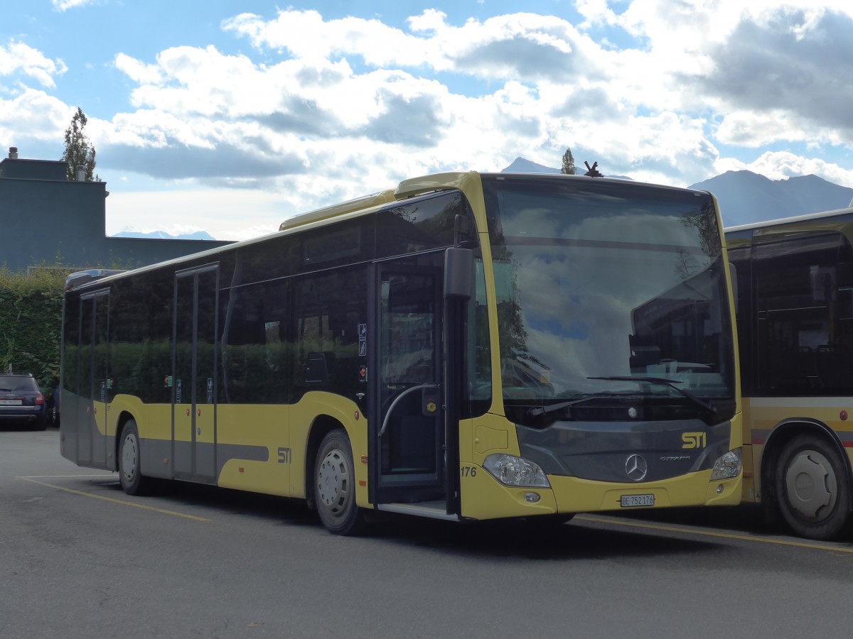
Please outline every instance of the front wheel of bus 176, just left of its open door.
M322 525L336 535L354 535L364 516L356 504L356 476L350 438L343 429L326 435L314 464L314 503Z

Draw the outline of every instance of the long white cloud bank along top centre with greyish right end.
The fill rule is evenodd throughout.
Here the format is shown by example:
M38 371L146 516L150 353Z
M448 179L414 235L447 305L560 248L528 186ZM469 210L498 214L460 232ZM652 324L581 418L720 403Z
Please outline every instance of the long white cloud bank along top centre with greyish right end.
M428 68L479 78L507 80L519 73L531 80L565 71L574 60L591 60L577 49L583 41L566 20L539 14L508 14L462 26L445 22L435 9L409 18L410 32L379 20L343 18L323 20L316 11L282 10L275 20L241 14L223 28L248 37L258 49L287 51L295 58L333 60L357 56L368 66Z

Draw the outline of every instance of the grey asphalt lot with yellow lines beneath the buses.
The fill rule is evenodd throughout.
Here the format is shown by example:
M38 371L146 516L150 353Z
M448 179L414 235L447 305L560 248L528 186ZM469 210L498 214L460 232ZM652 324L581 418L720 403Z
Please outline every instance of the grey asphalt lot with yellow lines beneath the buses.
M552 530L397 518L327 533L299 502L133 498L59 435L0 429L0 637L847 637L853 544L749 509Z

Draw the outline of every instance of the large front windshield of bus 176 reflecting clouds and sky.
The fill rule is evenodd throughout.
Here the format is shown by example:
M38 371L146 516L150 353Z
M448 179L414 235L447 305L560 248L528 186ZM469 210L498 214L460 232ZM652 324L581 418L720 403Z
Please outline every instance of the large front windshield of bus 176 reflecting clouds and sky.
M714 421L731 417L734 344L709 194L556 176L491 176L484 189L508 414L654 398L701 412L690 398L705 398L725 406Z

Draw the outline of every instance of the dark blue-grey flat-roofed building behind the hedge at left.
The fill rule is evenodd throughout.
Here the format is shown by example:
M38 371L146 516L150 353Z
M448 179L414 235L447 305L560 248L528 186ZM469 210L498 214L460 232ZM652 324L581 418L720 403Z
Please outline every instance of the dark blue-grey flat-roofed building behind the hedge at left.
M0 263L9 269L134 268L229 244L107 238L107 183L67 181L65 166L16 157L0 161Z

